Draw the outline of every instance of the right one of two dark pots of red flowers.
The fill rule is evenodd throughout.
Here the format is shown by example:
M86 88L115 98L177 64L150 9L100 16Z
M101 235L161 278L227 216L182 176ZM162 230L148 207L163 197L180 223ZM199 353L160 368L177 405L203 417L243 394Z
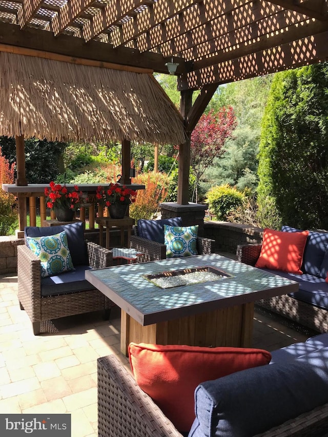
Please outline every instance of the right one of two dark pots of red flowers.
M100 205L107 206L111 218L123 218L128 205L135 202L137 192L126 185L110 183L108 187L98 186L96 199Z

